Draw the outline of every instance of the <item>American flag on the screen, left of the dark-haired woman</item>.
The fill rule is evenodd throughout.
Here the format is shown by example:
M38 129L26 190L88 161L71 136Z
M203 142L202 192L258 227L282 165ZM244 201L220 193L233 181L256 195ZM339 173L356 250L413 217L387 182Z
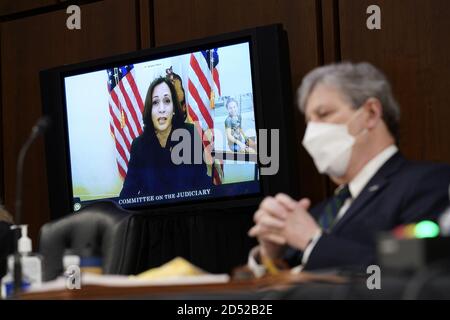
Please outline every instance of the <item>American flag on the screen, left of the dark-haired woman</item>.
M109 92L109 128L116 145L116 161L122 179L127 175L133 139L142 133L144 103L134 81L134 66L106 70Z

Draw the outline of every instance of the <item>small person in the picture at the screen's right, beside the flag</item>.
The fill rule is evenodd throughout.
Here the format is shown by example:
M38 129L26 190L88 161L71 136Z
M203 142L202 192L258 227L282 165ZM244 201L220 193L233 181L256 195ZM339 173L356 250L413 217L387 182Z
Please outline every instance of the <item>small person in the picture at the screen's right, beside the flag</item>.
M242 117L238 114L238 103L235 99L229 98L225 107L228 110L228 117L225 119L225 132L228 146L233 152L255 153L255 144L242 130Z

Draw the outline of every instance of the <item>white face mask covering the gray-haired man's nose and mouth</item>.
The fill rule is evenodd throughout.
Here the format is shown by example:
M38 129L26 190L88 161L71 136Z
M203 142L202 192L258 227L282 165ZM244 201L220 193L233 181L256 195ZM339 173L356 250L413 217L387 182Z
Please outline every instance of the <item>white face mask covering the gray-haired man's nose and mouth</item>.
M302 143L320 173L342 177L347 172L355 144L355 137L348 132L347 124L310 121Z

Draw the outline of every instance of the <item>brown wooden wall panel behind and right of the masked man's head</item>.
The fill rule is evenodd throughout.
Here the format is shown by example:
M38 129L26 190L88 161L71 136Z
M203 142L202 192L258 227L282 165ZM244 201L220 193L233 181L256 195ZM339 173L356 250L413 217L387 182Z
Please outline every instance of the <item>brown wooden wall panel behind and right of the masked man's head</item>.
M366 28L366 8L381 8L381 30ZM392 81L401 105L406 156L450 162L450 2L341 0L343 60L369 61Z

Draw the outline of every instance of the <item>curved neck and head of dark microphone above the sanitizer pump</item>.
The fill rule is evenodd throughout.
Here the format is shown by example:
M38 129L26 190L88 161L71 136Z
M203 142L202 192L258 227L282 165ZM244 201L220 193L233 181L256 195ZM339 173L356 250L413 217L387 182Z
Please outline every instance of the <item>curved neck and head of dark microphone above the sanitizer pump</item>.
M16 214L15 214L15 222L17 225L20 225L22 223L22 192L23 192L23 186L22 186L22 180L23 180L23 165L25 163L25 156L27 155L28 149L33 144L33 142L36 140L37 137L39 137L42 133L45 132L45 130L48 129L48 127L51 124L50 117L43 116L39 118L39 120L36 122L36 124L31 129L31 134L28 137L27 141L25 141L25 144L22 146L19 152L19 157L17 160L17 171L16 171Z

